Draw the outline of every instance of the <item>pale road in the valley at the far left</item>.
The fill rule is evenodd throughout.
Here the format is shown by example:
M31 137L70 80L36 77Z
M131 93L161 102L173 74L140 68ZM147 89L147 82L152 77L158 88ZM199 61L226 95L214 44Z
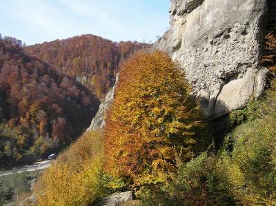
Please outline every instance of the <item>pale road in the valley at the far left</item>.
M36 171L39 169L46 169L47 167L50 167L51 161L41 161L37 163L33 163L32 165L25 165L22 167L15 167L12 170L8 170L5 172L0 172L0 177L1 176L7 176L11 174L19 174L22 172L31 172L31 171Z

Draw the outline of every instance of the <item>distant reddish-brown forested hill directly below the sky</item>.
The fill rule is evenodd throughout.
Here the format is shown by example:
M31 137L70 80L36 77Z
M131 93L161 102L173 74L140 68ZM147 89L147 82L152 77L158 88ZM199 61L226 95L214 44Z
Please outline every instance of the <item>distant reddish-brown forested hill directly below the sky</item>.
M101 99L115 83L121 62L143 48L148 48L148 45L130 41L117 43L86 34L31 45L24 50L74 76Z

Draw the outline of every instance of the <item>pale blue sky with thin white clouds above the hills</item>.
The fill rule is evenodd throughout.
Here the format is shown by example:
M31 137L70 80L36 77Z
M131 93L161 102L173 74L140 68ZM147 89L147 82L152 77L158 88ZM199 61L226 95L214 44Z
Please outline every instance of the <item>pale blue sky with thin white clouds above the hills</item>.
M95 34L155 41L168 29L170 0L3 0L0 33L27 45Z

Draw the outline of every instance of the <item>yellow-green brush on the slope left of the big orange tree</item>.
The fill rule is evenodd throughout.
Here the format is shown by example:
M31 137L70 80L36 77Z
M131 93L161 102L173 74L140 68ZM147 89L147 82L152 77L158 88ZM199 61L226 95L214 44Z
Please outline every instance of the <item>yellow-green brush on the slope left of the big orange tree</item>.
M103 196L101 132L86 132L34 185L38 204L88 205Z

